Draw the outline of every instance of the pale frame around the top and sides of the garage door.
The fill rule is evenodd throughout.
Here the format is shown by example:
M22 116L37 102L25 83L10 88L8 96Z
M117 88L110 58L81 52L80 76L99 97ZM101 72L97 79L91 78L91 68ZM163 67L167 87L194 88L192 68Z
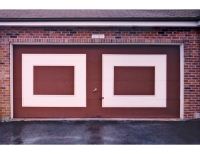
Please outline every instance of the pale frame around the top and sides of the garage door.
M13 46L14 45L176 45L176 46L178 45L180 48L180 119L184 119L184 44L183 43L24 43L24 42L13 42L13 43L10 43L10 112L11 112L10 116L11 116L11 120L13 119L13 105L14 105L13 104L14 102L13 101L13 52L14 52ZM65 119L69 119L69 118L65 118ZM134 118L131 118L131 119L134 119ZM143 118L139 118L139 119L143 119ZM151 118L151 119L157 119L157 118Z

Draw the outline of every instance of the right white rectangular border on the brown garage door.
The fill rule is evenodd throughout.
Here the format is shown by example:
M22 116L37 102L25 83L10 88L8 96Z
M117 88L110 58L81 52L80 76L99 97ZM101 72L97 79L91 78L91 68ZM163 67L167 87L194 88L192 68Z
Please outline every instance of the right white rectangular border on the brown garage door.
M103 54L102 107L166 107L166 62L166 54ZM154 66L155 94L114 95L114 66Z

